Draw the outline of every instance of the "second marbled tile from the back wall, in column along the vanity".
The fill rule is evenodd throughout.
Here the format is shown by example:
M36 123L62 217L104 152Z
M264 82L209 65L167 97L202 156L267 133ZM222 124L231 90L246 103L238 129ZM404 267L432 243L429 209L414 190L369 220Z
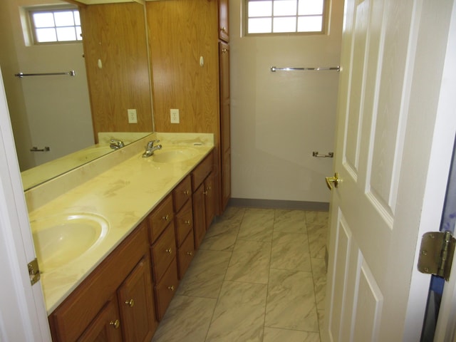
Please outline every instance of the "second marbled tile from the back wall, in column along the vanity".
M200 249L232 251L239 232L239 222L227 220L215 222L207 230Z

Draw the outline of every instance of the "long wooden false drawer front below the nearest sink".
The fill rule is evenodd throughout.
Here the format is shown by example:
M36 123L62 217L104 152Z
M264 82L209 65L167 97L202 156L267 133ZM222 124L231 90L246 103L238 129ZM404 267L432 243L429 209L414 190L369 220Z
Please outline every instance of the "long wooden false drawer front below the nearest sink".
M76 341L147 253L147 224L140 224L49 316L53 341Z

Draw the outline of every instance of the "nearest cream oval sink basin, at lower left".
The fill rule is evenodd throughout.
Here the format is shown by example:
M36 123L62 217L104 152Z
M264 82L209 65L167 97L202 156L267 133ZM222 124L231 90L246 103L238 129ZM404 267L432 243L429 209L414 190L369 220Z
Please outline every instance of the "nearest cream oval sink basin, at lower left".
M32 221L41 273L81 257L103 240L108 229L108 221L97 214L64 214Z

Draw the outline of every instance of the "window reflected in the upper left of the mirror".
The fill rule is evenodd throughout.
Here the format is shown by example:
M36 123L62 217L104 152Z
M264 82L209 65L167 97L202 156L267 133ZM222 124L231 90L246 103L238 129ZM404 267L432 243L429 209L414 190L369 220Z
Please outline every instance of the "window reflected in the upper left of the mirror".
M29 10L36 44L81 41L81 19L77 9Z

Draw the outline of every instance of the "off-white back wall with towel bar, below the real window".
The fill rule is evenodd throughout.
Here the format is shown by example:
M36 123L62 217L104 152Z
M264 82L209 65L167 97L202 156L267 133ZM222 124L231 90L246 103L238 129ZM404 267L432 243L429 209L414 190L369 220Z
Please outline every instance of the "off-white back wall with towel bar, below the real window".
M329 0L331 1L331 0ZM242 37L243 0L230 1L232 197L329 202L338 73L270 67L338 66L343 1L327 35Z

